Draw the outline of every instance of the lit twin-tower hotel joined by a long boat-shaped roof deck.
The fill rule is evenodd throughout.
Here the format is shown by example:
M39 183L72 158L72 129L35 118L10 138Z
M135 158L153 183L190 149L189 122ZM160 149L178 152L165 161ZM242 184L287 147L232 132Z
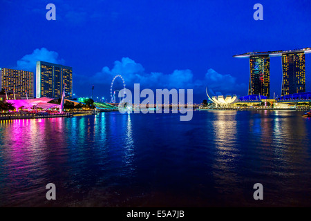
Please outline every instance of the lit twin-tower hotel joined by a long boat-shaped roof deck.
M282 57L281 96L305 92L305 54L311 48L267 52L247 52L234 57L249 59L248 95L270 97L270 57Z

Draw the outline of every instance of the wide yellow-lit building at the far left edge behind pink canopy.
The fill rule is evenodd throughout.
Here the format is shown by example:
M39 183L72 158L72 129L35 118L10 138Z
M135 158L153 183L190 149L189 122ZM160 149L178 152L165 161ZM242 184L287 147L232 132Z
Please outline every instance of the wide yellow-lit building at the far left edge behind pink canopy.
M8 94L19 95L22 98L33 98L34 82L33 72L0 68L1 89L6 89Z

